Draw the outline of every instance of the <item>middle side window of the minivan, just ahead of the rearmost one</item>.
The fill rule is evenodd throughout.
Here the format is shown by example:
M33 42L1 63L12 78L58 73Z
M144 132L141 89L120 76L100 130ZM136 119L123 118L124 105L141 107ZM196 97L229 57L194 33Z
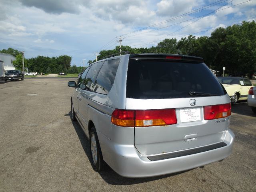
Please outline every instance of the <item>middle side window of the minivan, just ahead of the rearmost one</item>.
M85 90L92 91L93 83L96 80L98 72L100 71L100 68L102 67L103 63L104 61L92 64L83 82Z

